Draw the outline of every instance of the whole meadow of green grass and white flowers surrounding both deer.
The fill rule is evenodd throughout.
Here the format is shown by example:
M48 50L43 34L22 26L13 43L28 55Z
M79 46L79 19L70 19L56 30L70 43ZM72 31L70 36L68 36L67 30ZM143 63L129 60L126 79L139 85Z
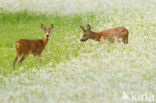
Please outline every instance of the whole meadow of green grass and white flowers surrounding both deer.
M54 24L42 62L29 55L13 69L15 42L43 38L41 24ZM81 42L82 24L93 31L125 26L129 43ZM155 0L1 0L0 103L131 103L123 92L156 96L155 27Z

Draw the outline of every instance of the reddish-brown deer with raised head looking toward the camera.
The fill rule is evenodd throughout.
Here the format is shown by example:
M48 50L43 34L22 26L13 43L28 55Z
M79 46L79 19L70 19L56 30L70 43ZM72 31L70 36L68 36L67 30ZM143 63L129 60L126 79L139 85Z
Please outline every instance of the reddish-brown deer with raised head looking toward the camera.
M41 24L41 28L44 30L44 38L43 39L20 39L16 42L16 57L13 62L13 67L15 68L16 61L20 56L21 59L19 63L22 63L25 59L25 57L32 53L34 57L41 56L41 53L45 49L45 46L48 43L48 39L50 36L50 32L53 29L53 24L46 28L43 24Z

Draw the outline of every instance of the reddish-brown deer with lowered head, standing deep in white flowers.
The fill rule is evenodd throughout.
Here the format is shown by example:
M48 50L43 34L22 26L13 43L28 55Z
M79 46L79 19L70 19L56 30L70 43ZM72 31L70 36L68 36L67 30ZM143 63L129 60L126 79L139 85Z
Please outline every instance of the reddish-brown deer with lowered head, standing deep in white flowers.
M87 24L87 30L83 26L80 26L83 30L83 37L81 41L87 41L88 39L93 39L100 41L102 38L107 39L111 42L123 40L125 44L128 43L128 30L125 27L116 27L112 29L107 29L102 32L91 31L91 26Z

